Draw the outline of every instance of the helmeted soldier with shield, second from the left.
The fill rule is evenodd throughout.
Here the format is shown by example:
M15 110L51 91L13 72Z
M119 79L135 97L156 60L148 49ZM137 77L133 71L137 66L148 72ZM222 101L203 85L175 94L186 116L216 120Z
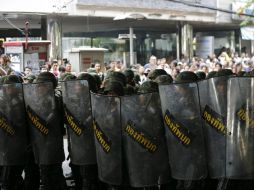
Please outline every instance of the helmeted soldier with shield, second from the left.
M65 158L62 97L55 96L56 86L57 80L50 72L40 73L36 83L24 86L30 138L43 190L66 189L62 170Z

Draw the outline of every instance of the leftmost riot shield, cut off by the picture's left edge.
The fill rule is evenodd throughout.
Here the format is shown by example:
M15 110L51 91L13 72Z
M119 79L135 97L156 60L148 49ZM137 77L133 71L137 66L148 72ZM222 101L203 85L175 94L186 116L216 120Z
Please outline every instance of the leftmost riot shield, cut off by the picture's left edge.
M22 84L0 86L0 165L24 165L28 144Z

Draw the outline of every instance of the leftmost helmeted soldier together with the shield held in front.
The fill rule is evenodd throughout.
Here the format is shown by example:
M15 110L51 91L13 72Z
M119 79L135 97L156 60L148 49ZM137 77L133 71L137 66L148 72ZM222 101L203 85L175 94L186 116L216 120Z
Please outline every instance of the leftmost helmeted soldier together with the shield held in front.
M9 75L2 78L1 83L1 189L19 190L23 188L21 174L26 163L26 149L28 145L22 81L15 75Z

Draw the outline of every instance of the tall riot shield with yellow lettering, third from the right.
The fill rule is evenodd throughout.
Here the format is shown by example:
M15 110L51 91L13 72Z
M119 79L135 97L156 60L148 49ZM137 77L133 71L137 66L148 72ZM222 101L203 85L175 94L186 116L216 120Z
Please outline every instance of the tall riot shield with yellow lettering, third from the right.
M197 84L160 85L159 91L172 177L205 178L205 144Z

